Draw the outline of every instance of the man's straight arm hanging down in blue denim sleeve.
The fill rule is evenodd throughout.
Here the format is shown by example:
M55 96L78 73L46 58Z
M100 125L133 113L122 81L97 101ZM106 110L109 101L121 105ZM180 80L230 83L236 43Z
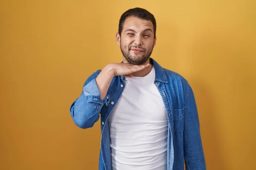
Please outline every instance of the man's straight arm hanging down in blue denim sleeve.
M195 96L188 85L184 117L184 155L186 170L206 170Z

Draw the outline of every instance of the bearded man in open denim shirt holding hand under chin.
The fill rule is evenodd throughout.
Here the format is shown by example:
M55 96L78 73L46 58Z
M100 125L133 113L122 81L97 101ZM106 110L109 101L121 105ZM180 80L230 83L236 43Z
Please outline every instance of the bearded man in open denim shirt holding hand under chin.
M150 58L156 20L125 11L116 42L122 63L93 73L70 107L75 124L93 127L101 114L99 170L205 170L198 112L189 83Z

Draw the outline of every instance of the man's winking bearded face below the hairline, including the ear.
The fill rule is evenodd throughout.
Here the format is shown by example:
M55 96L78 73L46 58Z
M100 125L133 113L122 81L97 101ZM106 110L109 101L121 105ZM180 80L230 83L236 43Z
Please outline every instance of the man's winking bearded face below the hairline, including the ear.
M127 62L143 64L150 57L156 43L152 22L137 17L126 18L121 36L116 34L116 42Z

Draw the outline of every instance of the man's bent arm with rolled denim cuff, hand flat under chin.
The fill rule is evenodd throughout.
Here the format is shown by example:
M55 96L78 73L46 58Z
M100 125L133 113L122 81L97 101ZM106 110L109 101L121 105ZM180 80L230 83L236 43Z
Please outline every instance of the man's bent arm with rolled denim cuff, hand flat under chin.
M99 120L102 106L107 102L108 88L114 76L130 75L150 65L132 65L128 63L112 63L102 71L93 73L84 83L81 96L70 106L70 114L78 127L93 127Z

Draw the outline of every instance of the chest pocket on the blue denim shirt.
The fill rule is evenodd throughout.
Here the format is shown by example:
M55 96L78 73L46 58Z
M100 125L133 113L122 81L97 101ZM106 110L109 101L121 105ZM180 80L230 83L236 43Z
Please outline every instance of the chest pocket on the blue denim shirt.
M184 130L184 111L185 109L174 109L173 110L173 123L174 123L174 133L180 134Z

